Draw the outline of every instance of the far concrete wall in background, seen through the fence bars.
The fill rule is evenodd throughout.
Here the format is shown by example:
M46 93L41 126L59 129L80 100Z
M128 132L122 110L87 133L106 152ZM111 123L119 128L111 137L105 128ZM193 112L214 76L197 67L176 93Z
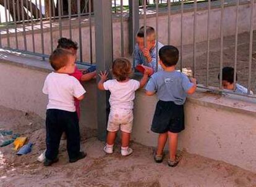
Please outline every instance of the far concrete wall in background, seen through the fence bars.
M213 2L212 2L213 4ZM184 30L183 30L183 44L193 43L193 31L194 31L194 12L193 9L186 8L184 12ZM256 7L256 5L255 5ZM213 6L210 14L210 39L220 38L220 8ZM239 33L244 33L250 29L250 2L243 2L239 6ZM121 25L119 18L113 18L113 49L114 57L121 56ZM83 20L82 22L82 47L83 47L83 61L90 62L90 34L88 21ZM197 42L207 41L207 21L208 21L208 10L207 5L200 6L197 10ZM167 44L167 33L168 33L168 16L166 13L160 11L159 16L159 40L163 44ZM254 15L254 25L256 26L256 11ZM140 18L140 26L143 25L143 19ZM147 25L156 27L155 15L148 15ZM62 23L62 36L69 38L69 22L64 20ZM236 6L234 3L229 3L224 9L224 36L231 36L235 34L236 30ZM41 53L41 36L40 36L40 25L35 25L35 51ZM24 49L23 46L23 33L22 28L19 28L18 43L19 49ZM124 53L126 57L129 57L129 27L127 18L124 19ZM14 30L12 30L14 32ZM92 26L92 49L93 49L93 62L95 62L95 30ZM32 46L32 34L31 27L27 27L27 49L33 51ZM51 40L49 34L49 23L44 22L44 44L45 54L51 53ZM56 21L53 23L53 46L56 47L59 39L59 26ZM79 42L79 30L77 20L72 20L72 39ZM11 47L15 49L15 35L11 34ZM7 39L2 34L2 44L7 46ZM171 44L174 46L180 46L181 44L181 14L179 10L172 10L171 15ZM78 56L79 57L79 54Z

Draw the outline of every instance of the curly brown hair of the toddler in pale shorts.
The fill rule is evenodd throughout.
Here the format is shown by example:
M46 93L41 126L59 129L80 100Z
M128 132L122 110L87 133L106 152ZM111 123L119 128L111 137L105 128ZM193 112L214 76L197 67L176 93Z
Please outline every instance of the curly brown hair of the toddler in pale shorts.
M116 58L112 65L112 71L117 81L124 81L132 73L132 65L127 58Z

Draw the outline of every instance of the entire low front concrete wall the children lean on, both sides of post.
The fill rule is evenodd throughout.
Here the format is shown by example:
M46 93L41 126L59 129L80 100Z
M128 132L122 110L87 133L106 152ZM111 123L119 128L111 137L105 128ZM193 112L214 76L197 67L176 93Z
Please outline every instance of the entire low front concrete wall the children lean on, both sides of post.
M31 58L23 58L28 62ZM0 105L30 111L45 117L47 98L41 88L49 68L31 67L0 55ZM40 62L41 64L42 62ZM85 84L87 94L82 101L80 129L96 129L96 82ZM132 139L147 146L156 146L157 134L150 131L157 102L143 90L136 94ZM256 101L237 100L226 95L197 92L185 106L186 130L179 135L179 149L200 154L256 172Z

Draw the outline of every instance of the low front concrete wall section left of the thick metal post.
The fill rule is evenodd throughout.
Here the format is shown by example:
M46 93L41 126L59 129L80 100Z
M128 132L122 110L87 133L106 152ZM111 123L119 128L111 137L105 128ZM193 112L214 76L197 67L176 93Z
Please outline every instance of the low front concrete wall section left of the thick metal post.
M13 64L11 60L20 59L20 57L10 57L8 60L1 61L0 55L0 105L28 111L38 114L45 118L46 105L48 102L47 95L41 91L45 78L52 70L46 62L36 61L37 63L45 63L43 68L33 67L29 65ZM31 58L23 58L22 62L29 63ZM35 64L35 63L34 63ZM81 126L96 129L96 79L83 84L88 94L81 102ZM83 133L84 129L81 128Z

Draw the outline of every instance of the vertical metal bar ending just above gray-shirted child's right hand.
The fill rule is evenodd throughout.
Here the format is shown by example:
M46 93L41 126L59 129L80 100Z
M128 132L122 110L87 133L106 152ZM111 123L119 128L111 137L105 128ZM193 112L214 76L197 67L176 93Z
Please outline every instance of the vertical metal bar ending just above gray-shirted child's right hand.
M194 0L194 47L193 47L193 76L196 74L196 64L197 64L197 0Z

